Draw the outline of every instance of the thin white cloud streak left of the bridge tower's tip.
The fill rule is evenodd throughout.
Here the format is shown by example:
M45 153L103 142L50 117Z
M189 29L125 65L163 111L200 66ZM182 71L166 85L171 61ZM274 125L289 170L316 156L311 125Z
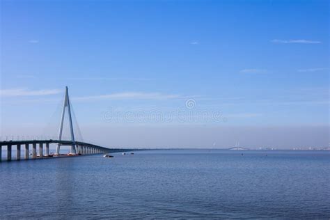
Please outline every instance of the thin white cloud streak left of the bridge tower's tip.
M12 88L0 90L0 96L3 97L14 97L14 96L40 96L40 95L54 95L63 91L59 89L42 89L31 91L25 88Z

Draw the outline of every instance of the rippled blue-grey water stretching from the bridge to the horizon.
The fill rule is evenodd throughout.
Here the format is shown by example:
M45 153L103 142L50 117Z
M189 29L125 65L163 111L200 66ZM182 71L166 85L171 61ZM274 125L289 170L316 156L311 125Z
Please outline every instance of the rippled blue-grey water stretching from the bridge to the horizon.
M0 218L330 218L329 151L113 155L0 163Z

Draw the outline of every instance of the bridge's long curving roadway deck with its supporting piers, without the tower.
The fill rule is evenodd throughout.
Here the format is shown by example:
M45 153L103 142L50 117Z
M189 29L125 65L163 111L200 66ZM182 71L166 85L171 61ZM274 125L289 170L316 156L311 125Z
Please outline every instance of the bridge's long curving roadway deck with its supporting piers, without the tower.
M64 156L77 156L77 155L93 155L102 154L107 152L125 152L132 149L120 149L120 148L104 148L92 143L85 143L81 141L75 141L74 146L76 148L77 155L50 155L49 143L59 143L61 146L72 146L72 141L58 141L58 140L26 140L26 141L0 141L0 162L2 158L2 147L7 146L7 161L12 160L12 147L16 146L16 159L21 159L21 146L24 146L24 159L37 159L47 157L64 157ZM29 146L32 145L32 154L29 157ZM39 154L37 155L37 145L39 146ZM44 151L45 145L45 151Z

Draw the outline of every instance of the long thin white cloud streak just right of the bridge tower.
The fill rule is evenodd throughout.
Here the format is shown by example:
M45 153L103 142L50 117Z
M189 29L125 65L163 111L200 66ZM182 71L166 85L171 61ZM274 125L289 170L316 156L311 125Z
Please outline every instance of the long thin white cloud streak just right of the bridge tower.
M171 95L162 93L111 93L107 95L92 95L75 97L74 100L169 100L181 98L181 95Z

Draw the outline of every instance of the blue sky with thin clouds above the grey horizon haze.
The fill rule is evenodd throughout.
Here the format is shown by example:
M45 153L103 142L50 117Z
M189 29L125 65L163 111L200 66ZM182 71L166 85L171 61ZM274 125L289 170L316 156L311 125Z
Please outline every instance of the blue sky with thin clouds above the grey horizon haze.
M65 86L81 127L321 126L329 143L329 1L1 1L1 134L42 132Z

